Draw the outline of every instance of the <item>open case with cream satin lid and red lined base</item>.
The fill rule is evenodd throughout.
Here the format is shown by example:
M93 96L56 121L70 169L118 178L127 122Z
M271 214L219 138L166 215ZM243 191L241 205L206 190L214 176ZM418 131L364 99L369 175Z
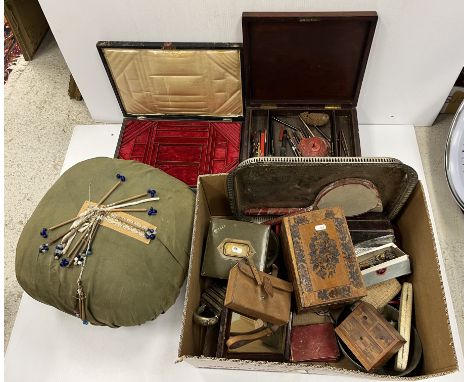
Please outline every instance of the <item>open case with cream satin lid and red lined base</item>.
M116 157L196 187L239 162L243 119L239 44L97 44L124 115Z

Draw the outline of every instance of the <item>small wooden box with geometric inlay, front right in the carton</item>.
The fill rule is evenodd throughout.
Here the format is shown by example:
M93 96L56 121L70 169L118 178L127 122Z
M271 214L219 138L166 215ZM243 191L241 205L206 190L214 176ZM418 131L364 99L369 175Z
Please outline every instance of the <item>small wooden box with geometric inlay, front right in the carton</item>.
M370 304L361 302L335 329L367 371L383 366L406 342Z

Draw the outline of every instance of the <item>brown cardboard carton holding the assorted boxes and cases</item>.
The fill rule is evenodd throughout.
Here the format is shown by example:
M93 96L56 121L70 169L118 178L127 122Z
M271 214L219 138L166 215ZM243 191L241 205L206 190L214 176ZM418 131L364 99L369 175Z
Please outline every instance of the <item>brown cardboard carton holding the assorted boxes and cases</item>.
M210 217L231 215L226 181L226 174L206 175L199 178L192 253L179 344L180 359L196 367L206 368L305 371L319 374L345 372L348 376L354 376L356 380L377 377L375 374L355 371L353 364L345 357L342 357L338 363L289 363L201 355L199 348L201 328L193 323L192 317L200 302L200 292L205 288L205 281L200 277L200 269ZM458 370L458 362L452 345L452 332L448 322L434 236L420 182L417 183L400 214L394 219L394 223L401 232L402 249L410 255L413 265L413 274L408 280L414 286L414 319L423 348L423 360L416 375L401 377L401 379L429 378L438 374L455 372Z

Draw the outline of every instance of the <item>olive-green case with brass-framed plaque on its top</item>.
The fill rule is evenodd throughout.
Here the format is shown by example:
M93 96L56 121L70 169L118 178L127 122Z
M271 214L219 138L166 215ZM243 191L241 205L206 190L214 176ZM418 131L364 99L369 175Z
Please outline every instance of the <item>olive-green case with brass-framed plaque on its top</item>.
M263 224L212 218L206 239L201 275L227 279L229 271L244 258L265 269L270 227Z

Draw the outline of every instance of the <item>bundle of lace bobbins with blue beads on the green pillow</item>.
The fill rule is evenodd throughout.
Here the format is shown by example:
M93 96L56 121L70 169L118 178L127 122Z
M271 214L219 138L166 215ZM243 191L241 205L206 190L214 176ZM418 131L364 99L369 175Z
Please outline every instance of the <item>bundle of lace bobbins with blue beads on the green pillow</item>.
M39 247L39 253L46 253L49 248L58 243L54 250L54 257L56 260L60 260L60 266L62 268L70 267L71 265L81 266L81 272L77 281L78 284L78 315L83 320L83 323L87 324L86 313L85 313L85 293L81 283L81 277L83 269L86 264L86 259L92 255L92 243L96 236L101 222L108 216L113 219L122 221L126 225L131 225L137 230L140 230L146 239L154 240L156 238L156 232L153 228L144 227L140 224L132 222L131 220L124 219L122 216L116 214L116 212L146 212L149 216L156 215L157 210L153 207L149 209L145 208L128 208L142 203L152 202L159 200L156 196L156 190L149 189L145 193L130 196L125 199L119 200L111 204L103 204L109 196L123 183L126 178L124 175L117 174L119 181L95 204L91 205L91 197L89 195L88 201L90 202L88 208L78 216L70 218L62 223L56 224L49 228L42 228L40 234L42 237L47 238L49 232L54 231L60 227L63 227L71 223L70 228L63 234L59 235L55 239L48 243L44 243ZM89 192L91 194L91 190ZM147 197L141 199L143 197ZM76 239L76 240L75 240Z

